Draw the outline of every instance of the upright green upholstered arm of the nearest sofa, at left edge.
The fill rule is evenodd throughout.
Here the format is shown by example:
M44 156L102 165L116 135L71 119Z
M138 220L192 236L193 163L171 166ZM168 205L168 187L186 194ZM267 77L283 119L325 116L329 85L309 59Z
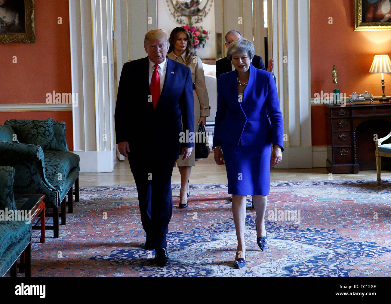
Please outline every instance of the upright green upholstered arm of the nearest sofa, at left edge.
M0 166L0 210L16 210L14 201L14 176L13 167Z

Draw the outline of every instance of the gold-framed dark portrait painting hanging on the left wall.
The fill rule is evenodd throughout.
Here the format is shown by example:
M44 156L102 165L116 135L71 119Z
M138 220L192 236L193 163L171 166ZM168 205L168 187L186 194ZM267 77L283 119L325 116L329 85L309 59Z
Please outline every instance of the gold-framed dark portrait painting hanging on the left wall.
M0 16L0 43L35 43L34 0L7 0L5 4L9 9L8 15Z

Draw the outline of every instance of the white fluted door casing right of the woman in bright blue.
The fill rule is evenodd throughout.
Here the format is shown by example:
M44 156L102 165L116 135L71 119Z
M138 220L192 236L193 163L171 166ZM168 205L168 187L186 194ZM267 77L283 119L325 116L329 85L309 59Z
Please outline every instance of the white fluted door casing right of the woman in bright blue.
M311 168L311 71L309 1L269 2L270 57L288 141L278 168Z

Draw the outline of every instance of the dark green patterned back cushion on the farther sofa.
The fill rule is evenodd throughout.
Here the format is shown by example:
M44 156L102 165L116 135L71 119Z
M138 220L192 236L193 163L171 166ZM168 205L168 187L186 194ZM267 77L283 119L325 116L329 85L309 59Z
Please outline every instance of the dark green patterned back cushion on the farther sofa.
M44 150L61 151L54 136L53 119L31 120L27 124L14 124L13 129L18 135L19 142L39 145Z

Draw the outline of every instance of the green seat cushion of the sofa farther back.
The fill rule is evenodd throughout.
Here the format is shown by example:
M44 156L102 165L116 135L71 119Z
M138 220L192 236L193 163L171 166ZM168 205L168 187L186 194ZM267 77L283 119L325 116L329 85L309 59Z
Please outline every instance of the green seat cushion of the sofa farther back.
M62 190L69 171L80 162L80 156L65 151L43 151L47 180L59 191Z

